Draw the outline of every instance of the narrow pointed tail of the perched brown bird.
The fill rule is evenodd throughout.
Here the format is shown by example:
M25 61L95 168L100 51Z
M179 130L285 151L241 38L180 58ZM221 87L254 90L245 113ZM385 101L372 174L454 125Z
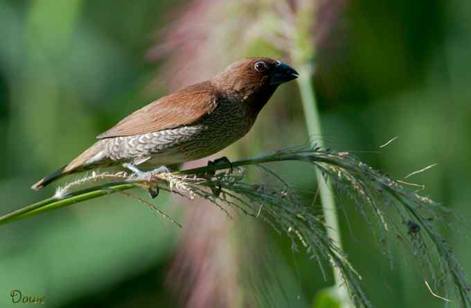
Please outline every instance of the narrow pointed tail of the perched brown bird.
M100 154L101 150L102 147L100 146L100 142L98 141L97 143L89 147L85 152L77 156L77 158L71 161L69 165L64 165L64 167L55 170L55 172L49 174L48 176L45 176L43 179L35 183L35 185L31 186L31 188L33 190L39 190L39 188L43 188L44 186L48 185L48 183L51 183L61 178L62 176L87 170L89 167L91 167L91 165L96 163L94 161L95 159L92 158ZM97 158L96 160L99 160L99 158Z

